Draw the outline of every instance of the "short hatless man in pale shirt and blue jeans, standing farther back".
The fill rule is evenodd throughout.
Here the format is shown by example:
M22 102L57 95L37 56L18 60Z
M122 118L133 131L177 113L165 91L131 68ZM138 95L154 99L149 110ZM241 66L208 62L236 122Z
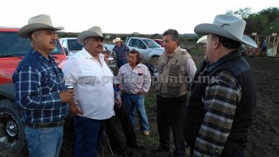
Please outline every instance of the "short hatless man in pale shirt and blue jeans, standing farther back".
M137 50L131 50L128 53L128 62L121 66L117 76L123 92L123 104L129 112L130 121L134 128L135 106L139 113L142 133L149 135L149 123L144 108L144 94L149 91L151 75L149 69L140 63L140 53Z

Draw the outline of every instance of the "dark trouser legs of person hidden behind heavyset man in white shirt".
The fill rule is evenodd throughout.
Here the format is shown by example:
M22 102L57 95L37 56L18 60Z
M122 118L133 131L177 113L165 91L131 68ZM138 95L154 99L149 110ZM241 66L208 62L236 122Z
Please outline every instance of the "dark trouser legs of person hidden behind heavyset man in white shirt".
M126 108L123 106L121 106L120 108L114 106L114 112L121 121L121 126L126 136L126 142L135 142L135 131L132 124L130 123L130 118ZM123 144L120 140L120 132L115 126L116 120L117 119L115 116L107 119L105 123L106 133L110 137L110 144L112 144L112 149L115 152L123 152L125 150L125 147L123 147Z

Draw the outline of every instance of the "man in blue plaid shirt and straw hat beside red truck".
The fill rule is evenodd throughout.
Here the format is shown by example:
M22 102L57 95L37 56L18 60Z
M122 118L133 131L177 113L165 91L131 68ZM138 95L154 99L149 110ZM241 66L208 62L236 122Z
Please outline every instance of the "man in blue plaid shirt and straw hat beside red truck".
M55 31L49 15L38 15L20 29L31 48L13 75L15 102L22 108L30 157L58 157L63 138L63 120L68 116L68 100L63 73L50 55L56 48Z

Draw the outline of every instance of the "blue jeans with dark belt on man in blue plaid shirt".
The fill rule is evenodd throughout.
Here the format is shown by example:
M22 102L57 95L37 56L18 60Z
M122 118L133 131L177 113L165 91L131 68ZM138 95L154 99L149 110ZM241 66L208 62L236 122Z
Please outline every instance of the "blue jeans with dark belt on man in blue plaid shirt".
M63 126L54 128L25 127L29 157L58 157L62 140Z

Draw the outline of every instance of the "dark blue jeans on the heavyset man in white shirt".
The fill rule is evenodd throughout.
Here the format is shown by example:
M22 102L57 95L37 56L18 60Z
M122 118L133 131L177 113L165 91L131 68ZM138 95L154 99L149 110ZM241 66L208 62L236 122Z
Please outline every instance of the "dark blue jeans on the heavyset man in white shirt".
M75 157L96 157L99 152L100 137L103 135L105 120L76 116Z

